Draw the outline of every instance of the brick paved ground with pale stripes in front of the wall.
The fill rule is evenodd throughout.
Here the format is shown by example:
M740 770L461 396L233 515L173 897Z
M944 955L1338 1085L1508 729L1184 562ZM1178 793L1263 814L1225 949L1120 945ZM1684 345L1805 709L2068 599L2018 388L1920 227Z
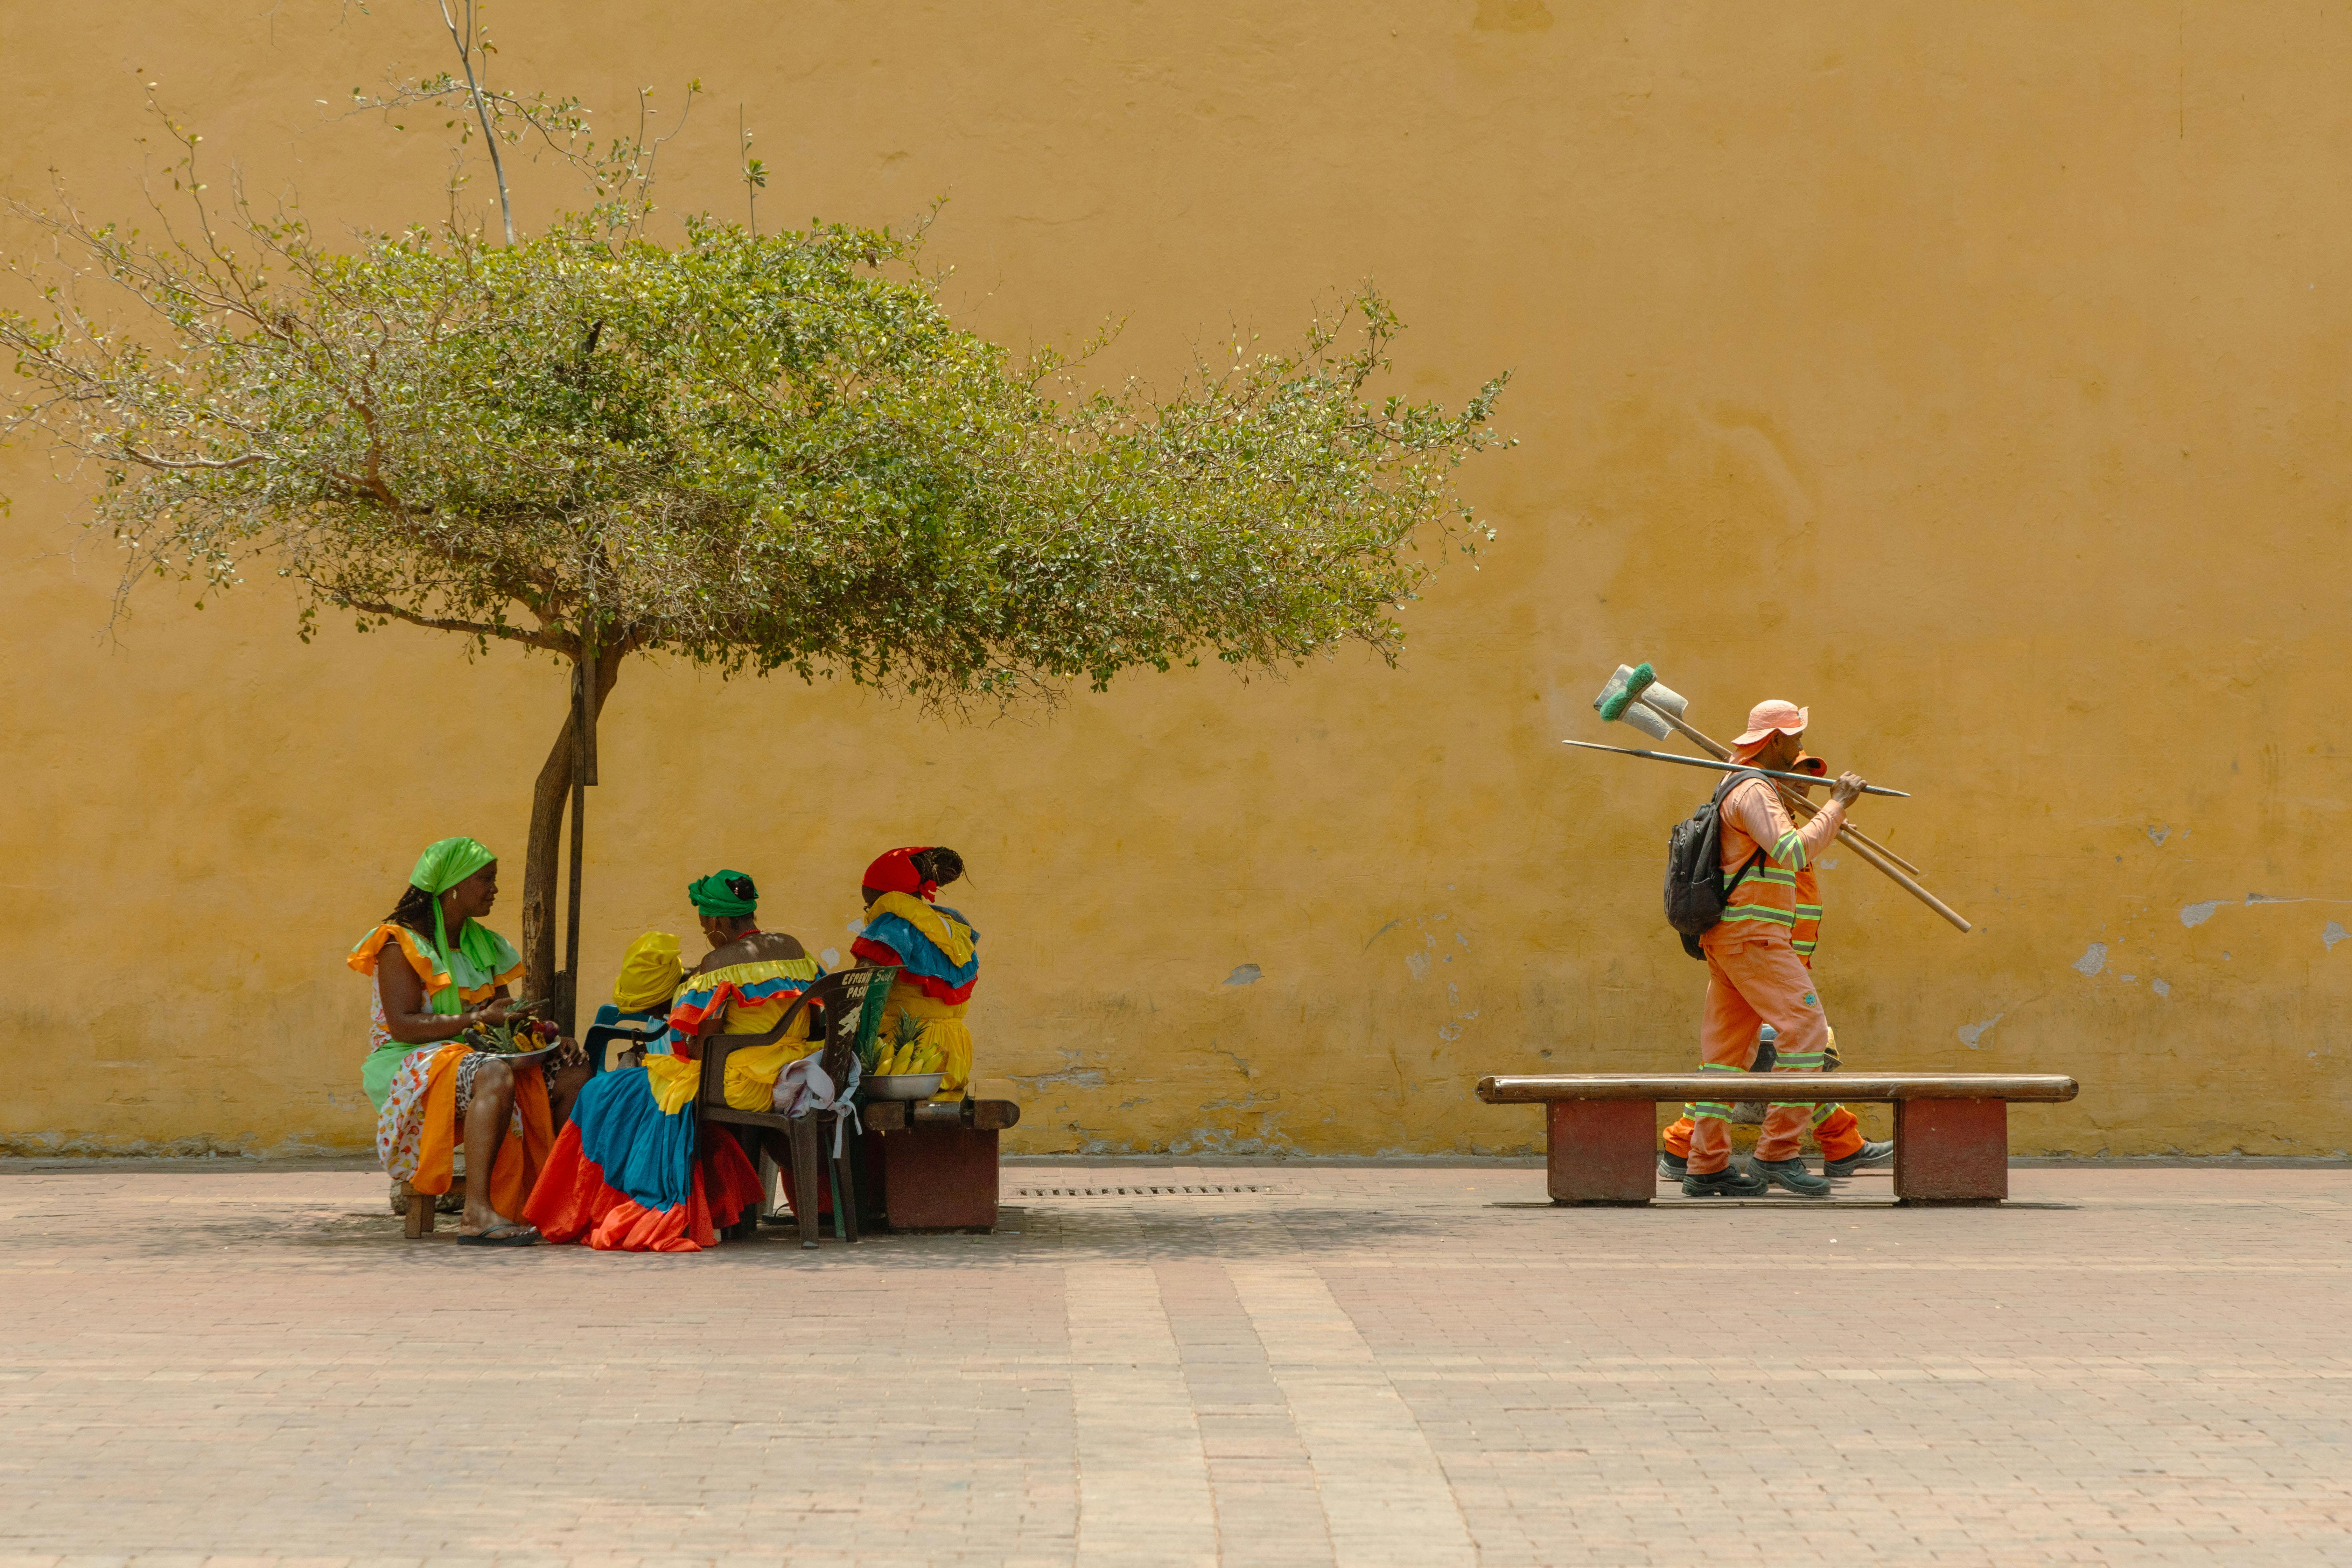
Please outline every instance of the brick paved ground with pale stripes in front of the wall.
M1138 1182L1272 1192L1018 1194ZM0 1563L2352 1561L2352 1171L2013 1185L1016 1166L997 1237L600 1258L14 1166Z

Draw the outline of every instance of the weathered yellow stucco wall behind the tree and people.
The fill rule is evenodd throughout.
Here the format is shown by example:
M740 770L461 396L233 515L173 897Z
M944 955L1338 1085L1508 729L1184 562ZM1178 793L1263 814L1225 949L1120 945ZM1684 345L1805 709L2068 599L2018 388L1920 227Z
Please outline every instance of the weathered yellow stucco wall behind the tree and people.
M649 24L649 16L661 16ZM1581 759L1651 658L1717 733L1762 696L1898 788L1863 820L1980 922L1839 858L1856 1065L2060 1070L2023 1152L2343 1150L2333 957L2352 21L2317 5L508 0L508 82L703 78L666 153L769 221L953 197L971 324L1176 374L1376 277L1414 393L1515 367L1482 571L1399 672L1122 679L943 729L854 691L633 668L593 792L590 983L753 870L847 945L880 846L946 842L1023 1150L1503 1152L1479 1072L1679 1067L1656 914L1696 773ZM129 212L139 82L325 219L437 212L442 153L327 122L442 59L426 7L0 0L0 179ZM670 94L675 101L675 92ZM160 158L155 162L162 162ZM527 186L543 209L557 181ZM9 230L21 237L21 230ZM548 665L315 646L254 588L143 590L78 489L0 456L0 1044L12 1147L355 1147L341 950L419 844L520 844ZM746 778L746 764L753 766ZM520 867L517 867L520 870ZM513 929L515 907L503 907ZM499 924L494 919L494 924ZM1228 983L1256 966L1256 983Z

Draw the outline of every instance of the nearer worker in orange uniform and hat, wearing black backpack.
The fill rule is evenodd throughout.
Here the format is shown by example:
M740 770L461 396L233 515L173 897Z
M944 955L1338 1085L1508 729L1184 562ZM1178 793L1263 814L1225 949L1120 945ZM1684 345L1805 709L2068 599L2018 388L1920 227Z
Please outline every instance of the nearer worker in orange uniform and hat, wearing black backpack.
M1731 759L1788 771L1804 755L1809 710L1778 698L1757 703ZM1813 990L1813 971L1797 957L1797 875L1846 823L1846 806L1863 792L1856 773L1839 773L1830 804L1797 827L1769 778L1740 778L1719 804L1722 870L1736 884L1724 917L1698 938L1708 959L1708 1009L1698 1025L1700 1072L1748 1072L1764 1025L1773 1027L1776 1072L1818 1072L1830 1046L1830 1018ZM1750 867L1750 860L1755 863ZM1745 875L1740 875L1745 870ZM1804 1063L1799 1067L1797 1063ZM1830 1197L1828 1178L1799 1157L1811 1105L1773 1103L1764 1112L1755 1166L1731 1164L1731 1105L1691 1105L1686 1197L1757 1197L1778 1185L1799 1197Z

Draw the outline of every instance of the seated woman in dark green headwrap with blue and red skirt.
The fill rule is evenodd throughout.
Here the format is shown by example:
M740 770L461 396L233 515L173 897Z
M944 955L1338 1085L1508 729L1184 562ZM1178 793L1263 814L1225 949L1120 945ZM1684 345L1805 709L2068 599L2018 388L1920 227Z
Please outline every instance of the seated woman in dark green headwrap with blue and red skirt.
M724 1013L722 1034L767 1034L826 971L783 931L762 931L760 891L743 872L713 872L687 886L710 940L691 976L677 971L677 938L637 938L621 966L630 999L668 952L677 976L670 1034L642 1065L588 1081L572 1124L555 1143L524 1215L550 1241L597 1251L694 1253L760 1204L760 1171L734 1138L715 1135L696 1154L694 1095L703 1065L691 1056L706 1020ZM663 947L666 945L666 947ZM619 1001L616 992L616 1001ZM821 1044L804 1009L783 1039L727 1058L727 1103L771 1110L783 1070Z

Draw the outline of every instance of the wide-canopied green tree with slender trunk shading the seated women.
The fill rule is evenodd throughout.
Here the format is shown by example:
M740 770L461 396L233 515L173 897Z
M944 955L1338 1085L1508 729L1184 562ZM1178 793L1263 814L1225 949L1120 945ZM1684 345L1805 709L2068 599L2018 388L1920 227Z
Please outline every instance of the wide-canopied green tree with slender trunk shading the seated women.
M1395 607L1437 548L1489 536L1456 470L1501 442L1503 376L1461 411L1374 402L1399 329L1378 294L1291 353L1235 343L1169 395L1089 390L1080 364L957 329L920 228L689 216L663 242L642 132L581 155L586 110L470 71L397 101L452 94L494 146L536 132L574 155L595 205L501 244L452 202L435 228L336 247L238 183L209 195L174 127L183 216L158 207L160 240L64 188L16 205L66 280L38 315L0 313L28 386L0 437L40 430L99 475L118 611L146 576L202 604L266 567L306 642L348 614L574 665L532 799L532 994L560 985L564 797L576 931L579 790L635 654L941 708L1343 642L1392 663ZM499 186L510 212L503 165ZM143 320L103 317L94 280Z

